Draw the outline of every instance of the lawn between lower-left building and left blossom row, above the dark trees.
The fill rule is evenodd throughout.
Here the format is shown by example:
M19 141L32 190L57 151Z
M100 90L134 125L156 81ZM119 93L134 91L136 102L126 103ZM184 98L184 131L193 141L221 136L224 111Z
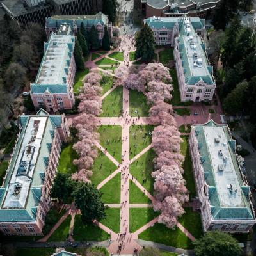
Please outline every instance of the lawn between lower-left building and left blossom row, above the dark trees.
M60 154L58 172L72 174L77 171L77 166L73 164L73 160L79 156L72 148L73 144L65 145Z

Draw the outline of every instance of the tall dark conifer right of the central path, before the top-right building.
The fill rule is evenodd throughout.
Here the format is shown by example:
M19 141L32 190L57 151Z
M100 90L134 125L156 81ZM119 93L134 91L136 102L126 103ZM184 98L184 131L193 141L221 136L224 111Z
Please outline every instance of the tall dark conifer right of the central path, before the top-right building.
M146 23L135 36L136 58L149 62L155 55L155 40L152 29Z

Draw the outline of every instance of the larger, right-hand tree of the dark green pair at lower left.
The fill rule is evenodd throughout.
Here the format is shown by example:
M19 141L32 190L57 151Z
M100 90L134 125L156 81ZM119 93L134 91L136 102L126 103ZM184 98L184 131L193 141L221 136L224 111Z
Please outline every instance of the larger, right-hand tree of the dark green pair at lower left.
M101 201L102 194L92 184L77 182L72 195L84 223L106 218L104 203Z

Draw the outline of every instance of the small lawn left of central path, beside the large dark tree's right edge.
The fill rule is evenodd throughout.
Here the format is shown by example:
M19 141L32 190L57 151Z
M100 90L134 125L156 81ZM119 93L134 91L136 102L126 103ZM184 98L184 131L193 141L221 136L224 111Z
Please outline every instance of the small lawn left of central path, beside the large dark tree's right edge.
M100 221L103 225L113 230L115 233L120 232L120 208L106 209L106 219Z

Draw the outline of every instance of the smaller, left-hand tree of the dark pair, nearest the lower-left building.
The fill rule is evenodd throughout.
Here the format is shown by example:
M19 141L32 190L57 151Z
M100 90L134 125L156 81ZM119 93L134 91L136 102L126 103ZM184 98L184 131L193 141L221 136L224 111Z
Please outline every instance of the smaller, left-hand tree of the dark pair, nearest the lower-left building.
M58 172L54 177L54 183L51 188L51 197L58 198L64 204L67 204L74 190L75 182L70 175Z

